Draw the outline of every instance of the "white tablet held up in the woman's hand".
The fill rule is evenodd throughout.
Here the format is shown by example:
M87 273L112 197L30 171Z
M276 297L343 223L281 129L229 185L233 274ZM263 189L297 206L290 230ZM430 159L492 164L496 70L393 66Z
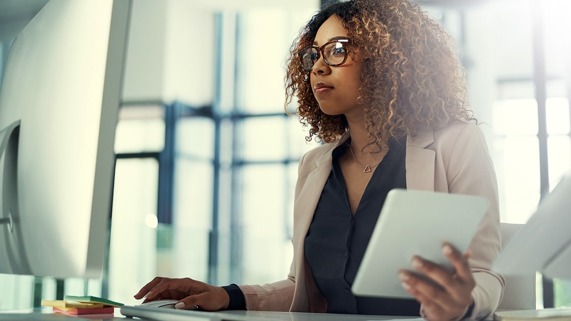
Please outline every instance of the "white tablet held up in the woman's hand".
M387 199L351 288L358 296L411 298L399 271L414 271L413 255L453 271L444 242L468 249L489 201L482 196L395 189Z

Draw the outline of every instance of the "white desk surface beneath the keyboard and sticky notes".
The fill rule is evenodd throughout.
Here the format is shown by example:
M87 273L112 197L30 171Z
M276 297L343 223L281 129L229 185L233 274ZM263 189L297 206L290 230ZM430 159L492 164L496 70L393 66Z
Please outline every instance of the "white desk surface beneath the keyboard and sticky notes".
M152 310L170 310L163 308L149 308ZM209 320L212 321L364 321L364 320L391 320L391 319L411 319L416 317L407 316L373 316L373 315L352 315L352 314L321 314L321 313L301 313L301 312L268 312L268 311L222 311L222 312L199 312L176 310L176 314L161 316L159 320ZM185 313L186 312L186 313ZM127 321L115 308L114 315L90 315L90 316L68 316L51 313L51 308L37 308L30 310L2 312L0 320L4 321ZM419 319L420 320L420 319Z

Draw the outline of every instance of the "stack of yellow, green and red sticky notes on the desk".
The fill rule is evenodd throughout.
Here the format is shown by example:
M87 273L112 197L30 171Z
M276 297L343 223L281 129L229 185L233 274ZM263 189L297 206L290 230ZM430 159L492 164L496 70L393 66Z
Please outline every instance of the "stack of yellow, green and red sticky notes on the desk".
M53 307L55 313L70 315L112 314L115 307L122 307L123 303L97 296L66 295L63 300L42 300L42 306Z

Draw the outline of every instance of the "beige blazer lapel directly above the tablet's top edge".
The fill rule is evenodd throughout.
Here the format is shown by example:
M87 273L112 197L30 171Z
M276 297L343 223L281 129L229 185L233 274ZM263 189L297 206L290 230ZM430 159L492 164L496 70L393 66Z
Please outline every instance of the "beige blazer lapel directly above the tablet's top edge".
M415 138L407 137L407 189L434 191L434 167L436 153L426 149L434 142L432 129L419 131Z

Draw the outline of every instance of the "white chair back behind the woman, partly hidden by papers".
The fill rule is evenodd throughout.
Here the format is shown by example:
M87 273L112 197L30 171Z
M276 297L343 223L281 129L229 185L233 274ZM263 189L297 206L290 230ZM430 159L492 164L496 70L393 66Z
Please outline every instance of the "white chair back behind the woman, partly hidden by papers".
M500 223L502 248L523 224ZM532 310L536 308L536 274L504 275L504 298L498 310Z

